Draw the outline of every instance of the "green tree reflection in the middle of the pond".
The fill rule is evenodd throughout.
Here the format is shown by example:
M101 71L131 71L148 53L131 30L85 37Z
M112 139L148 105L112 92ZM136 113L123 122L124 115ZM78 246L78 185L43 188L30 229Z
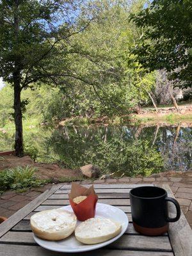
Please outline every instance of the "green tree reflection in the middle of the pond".
M63 127L54 131L47 141L49 159L54 156L54 161L74 169L92 163L115 176L150 175L163 170L161 153L150 141L134 140L119 127L110 131L110 127Z

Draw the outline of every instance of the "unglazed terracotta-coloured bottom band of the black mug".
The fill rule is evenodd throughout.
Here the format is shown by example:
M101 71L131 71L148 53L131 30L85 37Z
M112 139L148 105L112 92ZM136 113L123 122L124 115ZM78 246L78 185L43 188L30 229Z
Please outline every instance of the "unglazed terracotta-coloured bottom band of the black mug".
M141 227L139 225L137 225L136 223L132 223L133 226L134 226L134 229L145 235L145 236L160 236L162 234L164 234L165 232L168 231L168 228L169 228L169 225L165 225L163 227L160 227L160 228L145 228L145 227Z

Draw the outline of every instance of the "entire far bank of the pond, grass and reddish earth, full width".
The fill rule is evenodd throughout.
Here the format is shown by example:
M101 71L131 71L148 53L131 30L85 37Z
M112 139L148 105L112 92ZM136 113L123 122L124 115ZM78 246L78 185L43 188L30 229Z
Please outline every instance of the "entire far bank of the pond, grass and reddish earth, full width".
M24 132L35 131L40 127L59 127L64 125L140 125L140 124L154 124L162 123L167 125L177 125L180 122L186 125L192 125L192 104L185 104L179 106L179 112L172 106L162 107L156 109L152 107L140 108L138 113L128 113L121 116L101 116L99 118L84 117L84 116L72 116L71 118L65 118L64 120L54 120L54 123L40 123L38 118L25 118L23 120ZM15 131L15 124L9 121L3 127L0 127L0 135L7 134L8 132ZM9 148L11 149L11 148ZM1 150L1 148L0 148Z

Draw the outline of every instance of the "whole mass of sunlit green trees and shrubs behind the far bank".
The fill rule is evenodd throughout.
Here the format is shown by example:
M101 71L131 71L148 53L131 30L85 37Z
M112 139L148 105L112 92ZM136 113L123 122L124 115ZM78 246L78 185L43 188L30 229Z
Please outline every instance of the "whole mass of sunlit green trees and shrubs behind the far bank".
M30 84L33 90L22 90L24 118L34 116L39 122L49 123L72 116L112 118L129 113L130 108L140 102L147 102L155 74L147 74L134 62L131 48L140 36L140 29L127 19L130 12L137 13L141 7L142 1L90 2L76 20L77 27L86 24L84 13L90 13L95 19L81 33L71 36L70 44L65 45L62 40L58 43L60 47L65 45L67 53L60 52L60 63L54 63L54 67L61 72L60 68L66 63L69 76L65 74L56 79L59 88L38 82ZM47 58L54 59L53 56ZM3 90L10 93L8 99L12 100L7 102L6 93L0 92L3 96L0 111L6 109L2 126L8 118L13 120L8 114L13 105L12 87L6 86Z

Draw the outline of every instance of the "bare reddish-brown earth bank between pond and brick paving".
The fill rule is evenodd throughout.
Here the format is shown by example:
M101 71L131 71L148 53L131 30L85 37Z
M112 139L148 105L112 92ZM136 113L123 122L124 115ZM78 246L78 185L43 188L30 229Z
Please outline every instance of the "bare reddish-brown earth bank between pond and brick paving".
M60 182L70 182L74 180L85 180L87 179L86 176L84 176L81 172L81 169L68 169L68 168L61 168L58 166L56 163L52 164L47 164L47 163L36 163L33 161L29 156L24 156L24 157L16 157L16 156L3 156L1 157L0 161L0 172L3 172L4 170L12 169L17 166L21 167L26 167L26 166L31 166L33 168L36 168L36 177L38 179L43 179L43 180L51 180L51 182L54 183L60 183ZM134 177L115 177L114 173L106 174L104 175L102 172L99 172L100 174L97 174L99 177L98 179L100 182L104 182L103 180L110 179L110 180L119 180L123 181L124 178L125 180L129 180L131 182L136 182L136 181L145 181L145 179L149 180L166 180L170 179L171 177L182 177L182 179L187 179L190 177L191 182L192 182L192 170L189 170L188 172L180 172L180 171L164 171L160 173L153 173L152 175L146 177L144 175L136 175ZM157 179L158 178L158 179ZM94 182L95 179L90 179L90 181ZM97 180L97 181L99 181ZM97 183L97 182L96 182Z

